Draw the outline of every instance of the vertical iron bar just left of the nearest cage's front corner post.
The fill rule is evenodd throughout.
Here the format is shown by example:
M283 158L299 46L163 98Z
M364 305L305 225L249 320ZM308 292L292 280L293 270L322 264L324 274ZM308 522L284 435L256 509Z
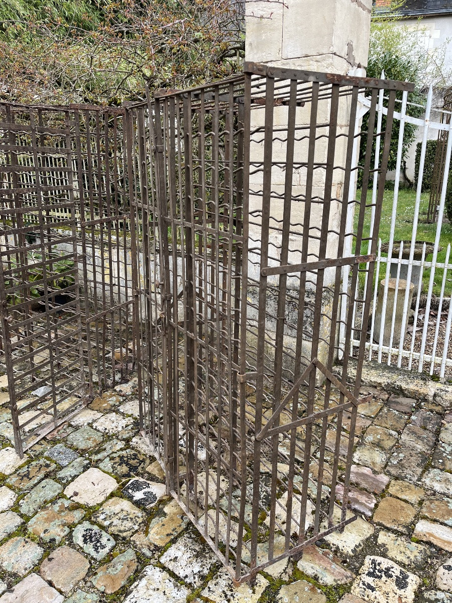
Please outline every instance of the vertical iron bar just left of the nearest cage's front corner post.
M232 287L233 287L233 238L232 233L234 230L234 86L229 84L229 103L228 110L226 113L227 127L227 140L228 154L225 156L225 164L227 165L228 183L225 182L225 188L228 189L228 248L227 248L227 358L228 358L228 377L230 384L228 387L228 410L229 410L229 471L228 471L228 511L226 520L226 549L225 558L226 563L229 564L230 554L230 529L231 529L231 510L232 510L232 491L234 482L234 452L237 446L236 438L236 425L237 425L237 396L235 390L237 387L237 372L233 368L233 329L231 328L231 320L233 320L233 309L232 309ZM226 178L226 172L225 172ZM221 426L219 426L221 429Z

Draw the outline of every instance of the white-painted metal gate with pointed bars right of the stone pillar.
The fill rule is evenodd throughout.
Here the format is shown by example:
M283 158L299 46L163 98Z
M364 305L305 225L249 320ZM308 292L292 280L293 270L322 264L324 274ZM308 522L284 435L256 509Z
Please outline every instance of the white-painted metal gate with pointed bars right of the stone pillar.
M419 107L409 102L408 93L398 101L399 110L394 114L394 119L400 123L397 149L397 165L395 168L394 194L385 191L385 197L392 195L392 207L383 206L383 218L380 226L380 243L378 245L377 264L375 280L373 283L359 282L357 286L373 288L372 318L368 326L368 359L385 362L388 365L417 370L419 373L427 372L439 377L452 377L452 346L450 345L451 323L452 323L452 258L450 256L450 242L452 241L452 226L445 219L445 198L447 191L447 180L450 167L452 150L452 136L449 133L451 124L440 121L430 121L432 114L432 88L428 91L424 118L415 118L409 115L410 107ZM370 100L360 96L361 109L356 120L356 139L353 162L358 165L359 160L359 133L362 118L368 111ZM435 109L435 112L450 113ZM375 168L378 166L378 154L380 150L381 123L386 114L385 98L383 90L380 90L378 103L377 136L375 137ZM444 120L446 121L446 120ZM452 120L450 120L452 121ZM403 160L403 136L406 124L413 124L420 128L422 133L421 156L419 162L419 175L415 191L412 191L413 209L411 233L409 238L403 239L398 236L403 230L401 224L401 196L407 197L410 193L401 186L401 169ZM422 204L428 205L428 201L422 199L422 179L424 177L425 154L427 140L432 137L432 131L448 131L444 177L442 179L441 200L437 207L436 224L432 229L432 240L419 242L419 224L422 219ZM371 193L372 201L375 203L377 194L377 178L374 178ZM354 191L351 192L348 205L347 232L352 232L351 226L354 219L353 203ZM390 204L389 204L390 205ZM406 208L404 208L406 209ZM386 212L386 214L385 214ZM389 213L391 214L389 216ZM372 215L373 219L373 215ZM385 224L389 219L389 233L385 230ZM371 225L370 225L371 226ZM450 236L449 236L450 235ZM430 237L429 237L430 238ZM443 239L443 240L442 240ZM446 241L446 244L444 244ZM430 243L430 245L429 245ZM353 241L351 236L347 239L348 253L351 253ZM404 248L406 252L404 253ZM432 259L428 257L432 255ZM395 257L393 257L395 256ZM391 282L386 276L390 276ZM344 268L343 293L350 293L350 268ZM436 281L435 281L436 277ZM380 282L383 281L383 283ZM413 283L413 298L410 300L410 287L405 282ZM382 295L382 300L378 297ZM355 295L355 298L358 296ZM345 295L342 297L345 300ZM342 320L345 318L345 303L342 305ZM360 317L356 311L355 324L358 326ZM341 323L339 333L339 344L344 346L345 324ZM351 346L357 346L358 341L352 341Z

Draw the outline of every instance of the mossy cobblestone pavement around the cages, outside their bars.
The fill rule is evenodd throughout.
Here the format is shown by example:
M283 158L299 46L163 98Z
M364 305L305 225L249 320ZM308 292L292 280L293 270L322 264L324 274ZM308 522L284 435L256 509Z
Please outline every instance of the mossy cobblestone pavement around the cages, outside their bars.
M351 472L359 519L234 590L165 496L135 387L96 398L23 459L1 394L0 603L452 602L450 400L370 390Z

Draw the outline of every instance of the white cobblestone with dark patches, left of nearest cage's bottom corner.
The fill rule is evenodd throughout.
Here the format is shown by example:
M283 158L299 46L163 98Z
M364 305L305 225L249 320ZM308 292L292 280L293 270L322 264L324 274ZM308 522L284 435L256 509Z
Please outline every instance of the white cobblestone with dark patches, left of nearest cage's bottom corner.
M216 558L207 545L186 534L160 557L160 563L187 584L198 587L216 563Z

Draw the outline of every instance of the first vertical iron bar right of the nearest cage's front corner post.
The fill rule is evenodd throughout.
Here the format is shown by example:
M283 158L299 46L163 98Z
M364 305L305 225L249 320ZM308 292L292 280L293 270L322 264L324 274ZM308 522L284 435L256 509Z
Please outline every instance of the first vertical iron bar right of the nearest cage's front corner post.
M260 268L266 268L268 263L268 245L269 245L269 221L270 221L270 194L271 194L271 163L273 148L273 90L274 79L268 77L265 87L265 140L264 140L264 160L263 160L263 197L262 197L262 234L260 251ZM266 326L266 296L267 296L267 277L260 276L259 279L259 311L258 311L258 335L257 335L257 378L256 378L256 420L255 432L259 433L262 429L262 402L263 402L263 375L265 370L264 352L265 352L265 326ZM260 484L260 454L261 444L259 440L254 440L253 451L253 513L251 519L251 573L257 566L257 532L259 521L259 484ZM274 501L271 501L274 505ZM256 580L256 574L252 581Z

